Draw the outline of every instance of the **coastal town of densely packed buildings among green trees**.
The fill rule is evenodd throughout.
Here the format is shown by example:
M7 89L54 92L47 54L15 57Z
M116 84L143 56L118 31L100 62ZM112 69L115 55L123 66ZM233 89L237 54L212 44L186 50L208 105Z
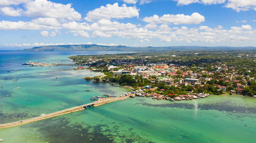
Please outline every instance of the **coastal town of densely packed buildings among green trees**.
M205 54L209 53L80 55L70 59L76 64L87 65L91 71L104 73L84 79L94 83L113 82L112 85L130 86L134 90L129 93L131 97L136 95L170 101L221 94L256 97L254 54L216 52L204 61ZM231 58L237 60L229 62Z

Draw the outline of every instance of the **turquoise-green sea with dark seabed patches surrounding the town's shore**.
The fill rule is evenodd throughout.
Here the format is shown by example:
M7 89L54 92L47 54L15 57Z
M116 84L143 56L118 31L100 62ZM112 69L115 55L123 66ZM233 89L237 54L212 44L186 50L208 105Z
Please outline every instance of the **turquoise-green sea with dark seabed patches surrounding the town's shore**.
M96 95L129 92L82 79L102 73L58 71L76 66L22 66L29 61L71 63L70 55L105 53L120 52L0 51L0 124L88 103ZM255 142L255 131L256 98L214 95L170 102L136 97L0 129L0 138L4 142Z

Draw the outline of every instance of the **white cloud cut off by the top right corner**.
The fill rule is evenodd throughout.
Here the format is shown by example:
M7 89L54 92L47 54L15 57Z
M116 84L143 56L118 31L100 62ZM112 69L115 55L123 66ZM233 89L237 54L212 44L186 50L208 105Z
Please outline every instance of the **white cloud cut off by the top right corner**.
M236 10L237 12L247 11L249 9L256 10L256 2L255 0L228 0L225 7Z

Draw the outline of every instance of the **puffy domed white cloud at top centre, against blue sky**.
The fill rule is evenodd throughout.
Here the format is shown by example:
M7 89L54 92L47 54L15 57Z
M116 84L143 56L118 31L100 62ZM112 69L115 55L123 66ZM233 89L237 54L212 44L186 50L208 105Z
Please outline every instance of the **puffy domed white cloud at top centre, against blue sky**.
M87 13L87 17L85 17L84 19L92 22L99 19L122 19L135 16L139 16L139 9L137 9L136 7L126 7L125 4L119 7L118 3L115 3L113 5L108 4L105 7L101 6L100 8L97 8L93 11L89 11Z

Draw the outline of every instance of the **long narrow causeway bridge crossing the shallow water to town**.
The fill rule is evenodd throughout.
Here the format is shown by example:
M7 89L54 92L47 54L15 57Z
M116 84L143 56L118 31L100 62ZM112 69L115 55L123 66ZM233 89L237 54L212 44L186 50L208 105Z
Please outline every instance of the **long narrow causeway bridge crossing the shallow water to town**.
M95 101L95 102L92 102L92 103L83 104L83 105L79 105L79 106L76 106L76 107L56 111L56 112L49 113L47 115L41 115L41 116L38 116L38 117L35 117L35 118L30 118L30 119L17 121L17 122L13 122L13 123L0 124L0 129L19 126L19 125L24 125L24 124L39 121L39 120L44 120L44 119L48 119L48 118L52 118L52 117L57 117L57 116L65 115L67 113L72 113L72 112L84 110L88 107L100 106L100 105L103 105L103 104L106 104L106 103L110 103L110 102L114 102L114 101L118 101L118 100L123 100L123 99L126 99L126 98L129 98L129 96L120 96L120 97L101 99L100 101Z

